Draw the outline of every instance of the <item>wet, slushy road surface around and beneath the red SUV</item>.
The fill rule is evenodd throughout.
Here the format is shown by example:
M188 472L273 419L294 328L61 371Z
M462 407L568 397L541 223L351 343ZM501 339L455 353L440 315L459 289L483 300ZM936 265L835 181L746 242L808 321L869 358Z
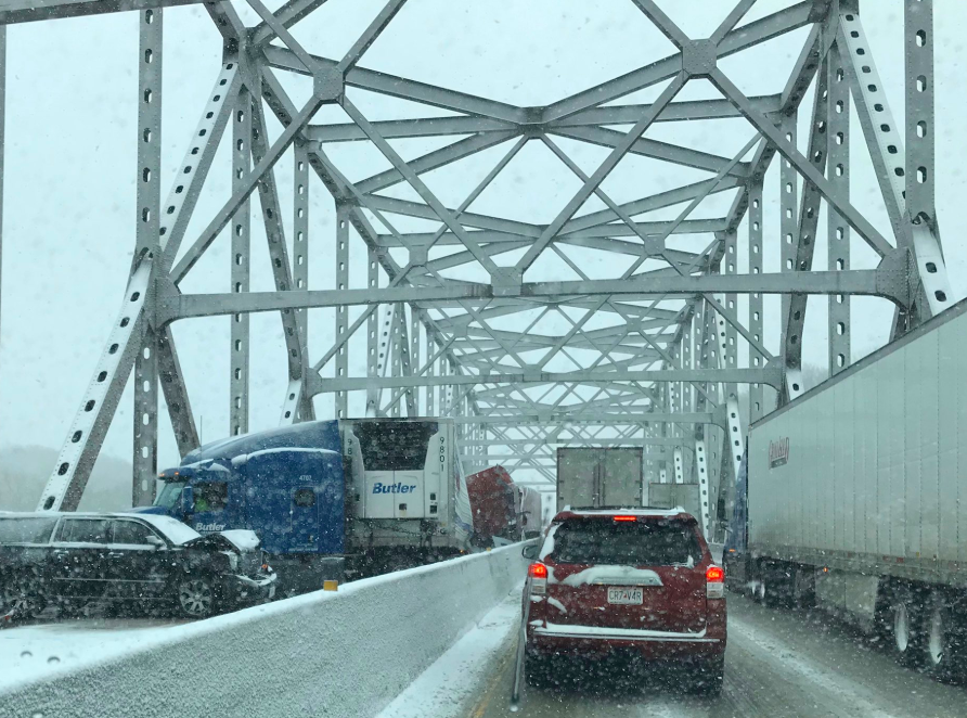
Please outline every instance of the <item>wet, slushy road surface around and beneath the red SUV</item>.
M671 672L599 676L584 665L564 689L528 688L521 709L511 713L518 601L491 612L381 718L967 715L967 689L898 666L841 623L733 593L720 698L691 695Z

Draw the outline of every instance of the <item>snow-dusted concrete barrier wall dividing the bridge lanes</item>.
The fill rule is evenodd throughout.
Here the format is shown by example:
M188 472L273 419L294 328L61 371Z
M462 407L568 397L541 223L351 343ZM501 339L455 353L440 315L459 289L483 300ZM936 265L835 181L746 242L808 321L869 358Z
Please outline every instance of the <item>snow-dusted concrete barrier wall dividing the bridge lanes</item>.
M525 575L520 546L164 631L0 693L0 716L373 716Z

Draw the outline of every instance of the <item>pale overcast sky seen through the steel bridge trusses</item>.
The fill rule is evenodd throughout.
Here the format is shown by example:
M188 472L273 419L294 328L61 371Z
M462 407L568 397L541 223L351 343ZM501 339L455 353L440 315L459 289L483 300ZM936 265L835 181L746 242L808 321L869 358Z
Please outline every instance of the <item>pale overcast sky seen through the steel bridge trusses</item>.
M276 7L279 3L269 3ZM378 11L382 1L330 0L313 17L295 28L313 52L339 56ZM708 36L734 4L732 0L659 2L692 37ZM760 0L749 17L791 4ZM236 3L237 5L237 3ZM964 34L967 3L936 0L937 202L951 282L956 298L967 292L965 240L959 213L964 195L960 167L967 159L963 142ZM903 2L866 0L865 29L898 121L903 117ZM248 24L254 15L247 8ZM131 13L18 25L9 29L7 95L7 177L4 180L2 317L0 317L0 446L38 444L57 447L78 408L85 387L118 310L133 247L138 56L137 17ZM797 57L805 31L800 30L758 50L724 60L722 68L747 93L778 92ZM540 105L580 91L668 54L669 42L627 0L410 0L361 65L413 79L452 87L520 105ZM219 72L220 41L198 7L165 11L163 197L184 153L206 97ZM285 79L298 101L308 85ZM648 100L652 88L622 103ZM446 114L440 111L351 91L353 102L371 119ZM681 99L714 97L705 81L689 84ZM803 101L803 117L812 106ZM315 120L346 121L341 111L325 110ZM278 127L272 128L272 132ZM680 142L731 155L751 137L744 120L705 123L686 128L665 124L647 137ZM423 154L452 139L395 143L405 157ZM598 148L559 140L589 174L604 158ZM230 157L227 143L212 167L184 245L208 222L229 196ZM430 189L449 206L459 204L479 177L506 152L490 150L449 169L427 176ZM361 143L334 148L331 156L350 179L362 179L388 165ZM291 202L291 155L279 165L284 202ZM773 172L774 174L774 172ZM603 185L618 202L650 194L707 175L696 170L629 157ZM778 269L777 178L769 180L766 201L766 271ZM313 289L332 286L333 206L321 183L310 188L310 264ZM473 209L515 219L547 222L578 189L569 171L537 143L531 143ZM853 203L886 235L889 223L862 132L853 120ZM388 192L401 197L402 189ZM722 216L732 195L704 203L695 216ZM771 197L771 198L770 198ZM595 201L596 202L596 201ZM582 211L597 209L590 203ZM674 216L678 208L671 211ZM288 211L286 221L288 221ZM654 218L665 218L656 215ZM648 217L652 219L653 217ZM258 219L256 215L255 219ZM825 225L825 220L821 226ZM258 227L258 222L253 222ZM428 222L400 220L401 230L435 229ZM772 228L772 229L771 229ZM818 238L815 268L825 266L825 233ZM289 232L291 235L291 232ZM682 238L680 246L687 246ZM694 242L694 238L692 240ZM195 267L182 289L216 292L229 289L227 238L221 238ZM271 289L263 235L253 238L253 290ZM854 242L854 267L873 267L874 255ZM352 249L362 248L353 238ZM745 270L745 244L739 246ZM357 286L364 277L364 255L351 267ZM508 255L506 264L519 255ZM605 258L572 255L593 277L613 277ZM359 258L362 257L362 262ZM404 259L404 255L398 257ZM528 279L572 279L559 275L560 265L534 267ZM479 275L449 275L481 279ZM350 317L358 316L353 309ZM824 363L825 300L811 300L807 359ZM879 346L886 336L889 307L884 302L854 303L856 359ZM745 310L743 309L743 316ZM193 320L176 326L179 352L196 419L204 438L228 431L227 318ZM777 349L777 312L766 312L768 344ZM771 326L770 326L771 324ZM564 325L564 331L566 331ZM502 328L507 328L506 325ZM310 312L310 349L317 359L332 341L333 316ZM523 329L523 328L518 328ZM555 331L547 326L547 331ZM560 331L559 329L557 331ZM252 428L278 423L285 390L285 349L278 316L252 321ZM353 373L364 374L364 336L351 345ZM320 399L320 418L331 415L331 400ZM353 398L351 413L362 410ZM108 433L104 451L129 457L131 446L130 386ZM178 460L163 415L160 463Z

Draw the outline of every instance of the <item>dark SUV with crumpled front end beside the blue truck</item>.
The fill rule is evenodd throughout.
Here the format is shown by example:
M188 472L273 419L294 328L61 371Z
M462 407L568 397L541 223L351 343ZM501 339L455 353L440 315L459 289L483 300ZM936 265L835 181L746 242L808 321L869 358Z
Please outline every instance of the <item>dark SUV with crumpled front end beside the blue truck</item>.
M103 603L204 618L273 597L258 544L252 531L202 536L168 516L0 513L0 616Z

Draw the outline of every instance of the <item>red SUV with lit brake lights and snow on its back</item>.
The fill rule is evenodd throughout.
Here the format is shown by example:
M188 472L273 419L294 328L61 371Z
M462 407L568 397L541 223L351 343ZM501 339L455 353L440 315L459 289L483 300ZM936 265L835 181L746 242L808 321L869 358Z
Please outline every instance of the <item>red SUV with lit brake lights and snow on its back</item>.
M631 654L694 670L718 693L725 664L725 573L695 517L655 509L565 509L529 546L528 682L554 656Z

